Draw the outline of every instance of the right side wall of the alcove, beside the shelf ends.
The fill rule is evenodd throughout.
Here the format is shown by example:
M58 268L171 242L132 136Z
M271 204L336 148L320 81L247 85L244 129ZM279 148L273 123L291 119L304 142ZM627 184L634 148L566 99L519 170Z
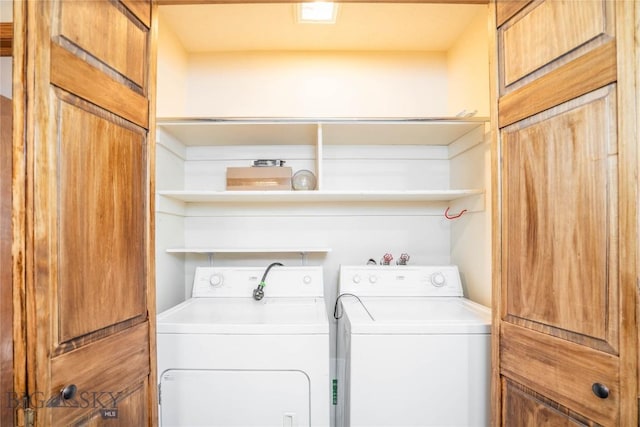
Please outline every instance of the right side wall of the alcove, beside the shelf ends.
M479 12L447 55L449 113L477 110L489 116L488 11ZM451 224L452 262L460 267L466 295L491 306L491 152L488 129L483 140L451 160L451 188L485 189L484 207Z

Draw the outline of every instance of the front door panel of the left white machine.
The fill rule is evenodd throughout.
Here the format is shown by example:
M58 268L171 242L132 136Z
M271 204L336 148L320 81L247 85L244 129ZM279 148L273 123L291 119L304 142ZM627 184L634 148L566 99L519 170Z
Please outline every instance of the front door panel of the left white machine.
M302 371L169 370L160 381L160 425L309 426Z

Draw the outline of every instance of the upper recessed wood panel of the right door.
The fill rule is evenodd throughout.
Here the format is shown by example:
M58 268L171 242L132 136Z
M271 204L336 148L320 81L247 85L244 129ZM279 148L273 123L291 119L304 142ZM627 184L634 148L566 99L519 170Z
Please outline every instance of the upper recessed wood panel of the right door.
M504 85L606 34L605 0L543 1L499 30Z

